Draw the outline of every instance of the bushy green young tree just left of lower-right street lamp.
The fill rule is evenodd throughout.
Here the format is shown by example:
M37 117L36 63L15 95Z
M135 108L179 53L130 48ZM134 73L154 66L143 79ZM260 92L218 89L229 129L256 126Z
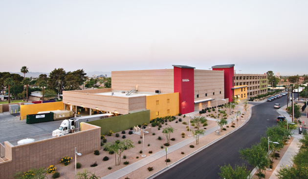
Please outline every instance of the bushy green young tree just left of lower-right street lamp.
M269 164L266 157L267 152L264 151L261 144L254 144L251 145L251 148L241 149L240 154L242 155L242 159L247 160L250 165L257 169L258 177L261 179L262 175L264 175L265 168Z

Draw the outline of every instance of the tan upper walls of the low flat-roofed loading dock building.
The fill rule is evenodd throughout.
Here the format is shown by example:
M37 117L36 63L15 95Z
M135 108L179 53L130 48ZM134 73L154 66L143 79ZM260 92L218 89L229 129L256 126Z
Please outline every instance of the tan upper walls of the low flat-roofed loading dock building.
M91 93L87 93L88 91ZM80 93L82 92L82 93ZM120 114L129 114L131 111L146 109L146 97L119 97L105 96L94 93L111 92L111 88L95 90L64 91L63 103L81 106L102 111L117 111ZM96 108L97 107L97 108Z

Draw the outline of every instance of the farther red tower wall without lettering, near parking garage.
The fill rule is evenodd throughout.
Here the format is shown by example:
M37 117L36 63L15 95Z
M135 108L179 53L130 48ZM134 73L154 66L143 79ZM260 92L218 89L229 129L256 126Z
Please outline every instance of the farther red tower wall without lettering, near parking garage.
M213 68L213 70L224 70L224 98L228 98L232 101L233 91L231 88L234 87L233 77L234 77L234 67L231 68Z

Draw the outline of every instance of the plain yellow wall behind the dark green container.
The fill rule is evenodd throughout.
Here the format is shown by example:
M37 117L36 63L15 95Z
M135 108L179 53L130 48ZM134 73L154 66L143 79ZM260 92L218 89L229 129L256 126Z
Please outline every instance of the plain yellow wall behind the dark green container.
M46 102L40 104L21 105L21 118L26 119L29 114L37 114L40 111L63 110L63 102Z

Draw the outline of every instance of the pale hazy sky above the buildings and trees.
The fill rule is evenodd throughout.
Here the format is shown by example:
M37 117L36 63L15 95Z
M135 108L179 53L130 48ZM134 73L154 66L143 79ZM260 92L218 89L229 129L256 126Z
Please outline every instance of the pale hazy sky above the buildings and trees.
M0 0L0 71L308 74L308 0Z

